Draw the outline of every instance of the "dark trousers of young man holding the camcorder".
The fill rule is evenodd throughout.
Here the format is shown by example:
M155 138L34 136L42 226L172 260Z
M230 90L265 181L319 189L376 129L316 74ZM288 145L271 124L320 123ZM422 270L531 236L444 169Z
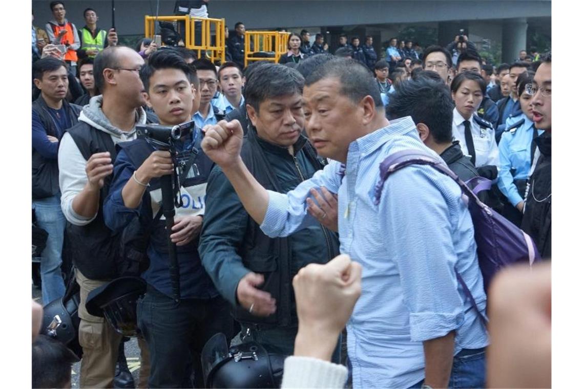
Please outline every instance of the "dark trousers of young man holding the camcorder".
M151 371L148 387L203 388L201 351L217 332L232 334L230 306L222 297L183 299L171 297L154 288L138 301L138 326L150 351Z

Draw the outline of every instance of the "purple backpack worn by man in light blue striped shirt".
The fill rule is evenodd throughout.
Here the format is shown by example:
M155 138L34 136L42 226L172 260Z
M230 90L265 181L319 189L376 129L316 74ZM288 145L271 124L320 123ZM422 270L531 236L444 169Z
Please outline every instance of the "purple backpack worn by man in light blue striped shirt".
M380 181L375 188L376 205L380 202L381 191L387 177L402 167L412 164L432 166L456 181L460 185L463 195L468 197L468 210L474 225L478 264L481 268L485 292L488 290L493 276L500 269L520 262L529 263L531 266L533 262L541 260L536 245L529 235L478 199L476 193L488 189L491 181L471 180L478 183L473 191L442 160L436 160L421 150L403 150L388 156L381 162L379 166ZM458 272L456 272L456 278L463 286L465 295L471 300L472 306L478 311L474 297Z

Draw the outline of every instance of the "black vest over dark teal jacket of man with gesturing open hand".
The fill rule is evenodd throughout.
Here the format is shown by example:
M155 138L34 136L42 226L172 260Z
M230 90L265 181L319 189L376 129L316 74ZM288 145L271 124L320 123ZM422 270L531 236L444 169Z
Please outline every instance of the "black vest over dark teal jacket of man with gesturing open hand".
M315 170L322 169L323 165L309 143L303 147L303 151ZM253 129L246 134L241 158L260 185L267 190L284 193ZM249 270L264 276L265 282L261 289L269 292L276 299L278 306L276 313L268 317L253 316L241 306L236 306L235 319L265 328L293 324L291 323L293 289L290 277L292 258L290 239L288 237L270 238L262 232L258 223L251 217L248 217L246 231L247 236L241 250L242 262Z

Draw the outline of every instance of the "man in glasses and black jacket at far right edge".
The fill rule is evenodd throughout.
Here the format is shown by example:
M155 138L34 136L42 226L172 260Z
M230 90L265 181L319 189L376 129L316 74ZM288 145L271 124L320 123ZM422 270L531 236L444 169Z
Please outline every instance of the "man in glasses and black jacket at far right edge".
M536 243L542 258L551 257L551 53L541 58L530 87L533 123L544 133L534 139L537 149L529 174L521 228Z

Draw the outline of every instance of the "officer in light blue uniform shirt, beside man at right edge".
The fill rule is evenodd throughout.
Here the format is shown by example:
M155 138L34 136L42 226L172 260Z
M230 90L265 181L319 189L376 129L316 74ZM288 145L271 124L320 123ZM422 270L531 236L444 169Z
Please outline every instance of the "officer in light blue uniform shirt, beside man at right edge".
M531 94L526 86L531 84L533 73L523 73L517 79L517 92L522 113L507 120L514 120L503 132L499 142L499 190L505 196L503 216L521 225L523 218L523 199L525 197L527 177L533 162L536 143L534 139L543 134L533 124L533 111L530 106Z

